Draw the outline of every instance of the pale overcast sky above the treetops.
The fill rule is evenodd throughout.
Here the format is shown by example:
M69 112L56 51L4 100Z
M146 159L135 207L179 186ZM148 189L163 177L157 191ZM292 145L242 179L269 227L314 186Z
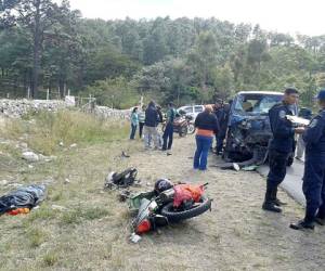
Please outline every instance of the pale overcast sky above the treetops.
M212 17L266 30L325 35L325 0L70 0L90 18Z

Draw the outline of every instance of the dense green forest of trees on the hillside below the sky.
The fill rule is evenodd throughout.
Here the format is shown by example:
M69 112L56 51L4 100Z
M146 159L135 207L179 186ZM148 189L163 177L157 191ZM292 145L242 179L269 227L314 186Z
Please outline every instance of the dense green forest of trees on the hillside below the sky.
M306 105L325 87L325 35L217 18L89 20L67 0L0 0L1 96L69 89L128 107L141 95L184 104L287 86Z

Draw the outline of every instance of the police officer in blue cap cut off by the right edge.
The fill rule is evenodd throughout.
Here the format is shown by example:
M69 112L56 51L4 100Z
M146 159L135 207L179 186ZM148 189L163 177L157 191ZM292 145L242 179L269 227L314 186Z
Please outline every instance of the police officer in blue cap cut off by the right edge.
M304 219L290 224L294 230L314 229L325 224L325 90L317 94L321 111L308 126L302 138L306 163L302 191L306 197Z

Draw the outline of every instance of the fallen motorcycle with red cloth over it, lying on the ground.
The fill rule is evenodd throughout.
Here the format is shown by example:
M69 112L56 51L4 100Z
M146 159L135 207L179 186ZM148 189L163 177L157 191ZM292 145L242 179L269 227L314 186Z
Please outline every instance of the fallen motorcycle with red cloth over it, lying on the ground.
M132 196L129 207L131 211L138 212L132 222L134 232L145 233L210 210L212 201L204 195L207 185L173 184L167 179L160 179L153 191Z

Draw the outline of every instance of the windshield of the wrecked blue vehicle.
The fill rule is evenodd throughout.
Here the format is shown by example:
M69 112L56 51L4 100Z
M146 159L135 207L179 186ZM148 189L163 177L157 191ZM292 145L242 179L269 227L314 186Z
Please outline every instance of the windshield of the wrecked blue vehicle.
M282 98L282 94L240 94L236 99L234 112L242 115L266 115Z

